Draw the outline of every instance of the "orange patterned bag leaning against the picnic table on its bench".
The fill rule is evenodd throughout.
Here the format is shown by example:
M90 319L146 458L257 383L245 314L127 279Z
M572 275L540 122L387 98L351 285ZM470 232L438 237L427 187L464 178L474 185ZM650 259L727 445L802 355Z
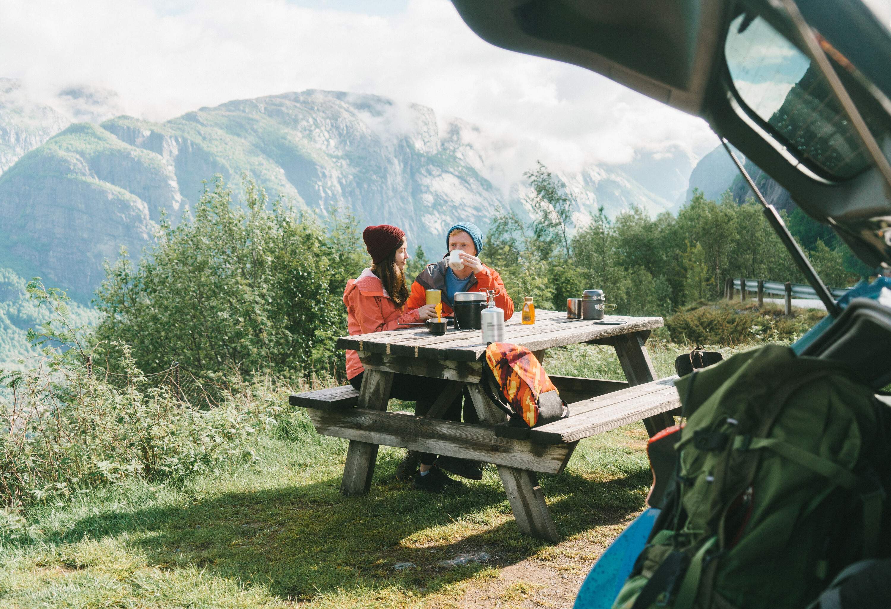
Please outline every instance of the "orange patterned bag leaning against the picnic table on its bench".
M483 388L489 399L511 416L515 426L535 427L569 416L560 391L532 351L509 342L486 348Z

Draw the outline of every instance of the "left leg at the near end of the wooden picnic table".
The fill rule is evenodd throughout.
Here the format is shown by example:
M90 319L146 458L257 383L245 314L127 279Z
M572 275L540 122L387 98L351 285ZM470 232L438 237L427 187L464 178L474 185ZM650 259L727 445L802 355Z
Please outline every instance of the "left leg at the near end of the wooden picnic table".
M362 388L359 390L358 407L386 410L392 383L392 372L365 370L362 377ZM372 488L372 475L374 475L374 464L377 458L377 444L349 440L347 465L343 468L340 492L347 497L356 497L367 493Z

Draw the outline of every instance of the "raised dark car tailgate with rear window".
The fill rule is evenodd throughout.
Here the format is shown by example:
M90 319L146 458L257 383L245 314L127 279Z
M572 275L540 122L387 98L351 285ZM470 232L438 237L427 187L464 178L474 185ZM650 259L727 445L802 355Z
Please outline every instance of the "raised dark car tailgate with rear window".
M863 262L887 267L891 35L861 0L798 0L795 13L784 1L791 2L453 4L494 45L576 64L706 119L802 210L833 226ZM795 20L797 11L804 21ZM858 133L821 60L870 136ZM760 93L765 87L773 94Z

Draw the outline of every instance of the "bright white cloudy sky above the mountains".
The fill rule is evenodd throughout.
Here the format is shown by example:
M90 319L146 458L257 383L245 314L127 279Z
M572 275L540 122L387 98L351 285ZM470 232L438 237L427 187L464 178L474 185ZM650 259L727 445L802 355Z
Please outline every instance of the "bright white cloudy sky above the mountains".
M446 0L4 0L0 57L0 76L106 86L153 120L323 88L429 105L557 169L717 144L702 120L607 78L488 45Z

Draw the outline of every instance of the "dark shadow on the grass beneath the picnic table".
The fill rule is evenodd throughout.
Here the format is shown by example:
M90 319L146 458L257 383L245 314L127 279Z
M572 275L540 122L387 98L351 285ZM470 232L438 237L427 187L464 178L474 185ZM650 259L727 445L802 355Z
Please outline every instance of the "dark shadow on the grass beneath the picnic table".
M122 536L150 566L197 567L296 600L380 588L429 594L481 570L517 563L548 545L522 535L512 518L499 517L510 515L511 507L494 468L483 481L429 496L396 482L395 464L379 459L364 498L340 496L340 479L331 477L194 499L191 506L92 515L65 531L61 541ZM593 482L562 473L543 475L541 482L566 539L624 522L642 507L650 474ZM439 564L475 552L491 559L454 568ZM400 563L403 568L396 569Z

